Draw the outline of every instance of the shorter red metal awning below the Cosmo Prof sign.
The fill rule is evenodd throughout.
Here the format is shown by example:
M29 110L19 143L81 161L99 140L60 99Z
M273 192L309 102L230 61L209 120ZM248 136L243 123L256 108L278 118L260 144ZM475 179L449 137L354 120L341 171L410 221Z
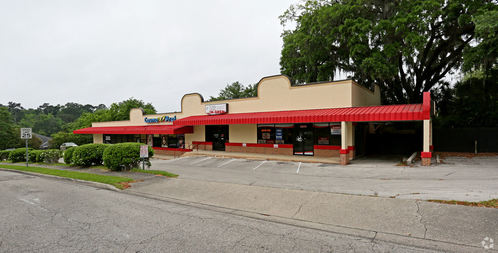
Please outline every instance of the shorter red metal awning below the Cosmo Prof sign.
M73 131L73 134L192 134L194 128L191 125L130 125L130 126L100 126L84 128Z

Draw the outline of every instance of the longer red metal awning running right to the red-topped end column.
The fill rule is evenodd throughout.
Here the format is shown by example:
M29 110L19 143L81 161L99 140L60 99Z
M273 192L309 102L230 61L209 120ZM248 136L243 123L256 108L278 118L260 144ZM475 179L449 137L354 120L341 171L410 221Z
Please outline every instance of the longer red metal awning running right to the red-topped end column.
M190 116L174 125L423 120L423 104ZM427 118L428 119L428 118Z

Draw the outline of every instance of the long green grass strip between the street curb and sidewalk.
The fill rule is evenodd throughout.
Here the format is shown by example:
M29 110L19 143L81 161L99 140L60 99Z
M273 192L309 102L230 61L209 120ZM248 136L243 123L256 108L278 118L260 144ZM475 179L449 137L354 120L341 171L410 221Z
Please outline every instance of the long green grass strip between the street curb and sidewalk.
M52 168L26 167L26 166L19 166L19 165L4 165L4 164L0 164L0 167L9 168L11 170L17 170L17 171L34 172L34 173L52 175L52 176L63 177L63 178L72 178L72 179L79 179L79 180L85 180L85 181L91 181L91 182L104 183L104 184L113 185L116 188L121 189L121 190L123 189L121 183L134 181L131 178L123 178L123 177L115 177L115 176L103 176L103 175L90 174L90 173L84 173L84 172L70 172L70 171L54 170Z

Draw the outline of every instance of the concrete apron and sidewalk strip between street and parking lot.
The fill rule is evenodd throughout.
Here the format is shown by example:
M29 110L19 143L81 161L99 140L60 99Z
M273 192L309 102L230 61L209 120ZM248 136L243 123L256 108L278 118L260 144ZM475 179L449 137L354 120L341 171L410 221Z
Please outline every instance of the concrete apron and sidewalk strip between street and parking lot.
M98 169L43 167L109 173ZM117 174L113 173L143 180L120 191L123 193L371 241L412 245L430 251L476 252L484 250L484 238L498 239L497 208L166 178L133 172Z

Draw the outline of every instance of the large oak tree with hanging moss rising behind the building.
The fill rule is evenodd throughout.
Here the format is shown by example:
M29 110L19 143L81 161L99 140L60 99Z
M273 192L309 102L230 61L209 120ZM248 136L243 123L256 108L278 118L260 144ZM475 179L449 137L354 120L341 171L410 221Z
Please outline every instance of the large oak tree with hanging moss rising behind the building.
M379 83L384 103L420 103L479 47L475 21L493 10L496 1L306 1L280 17L296 25L282 34L281 72L299 83L348 72Z

